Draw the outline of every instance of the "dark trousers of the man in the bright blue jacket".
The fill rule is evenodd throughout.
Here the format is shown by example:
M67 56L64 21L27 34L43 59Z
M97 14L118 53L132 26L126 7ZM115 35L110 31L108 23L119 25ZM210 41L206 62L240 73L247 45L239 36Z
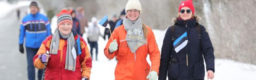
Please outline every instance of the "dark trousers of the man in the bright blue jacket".
M35 80L35 67L33 64L33 58L36 55L37 51L39 48L28 48L26 47L26 52L27 52L27 62L28 62L28 80ZM38 70L38 80L42 80L43 76L43 69Z

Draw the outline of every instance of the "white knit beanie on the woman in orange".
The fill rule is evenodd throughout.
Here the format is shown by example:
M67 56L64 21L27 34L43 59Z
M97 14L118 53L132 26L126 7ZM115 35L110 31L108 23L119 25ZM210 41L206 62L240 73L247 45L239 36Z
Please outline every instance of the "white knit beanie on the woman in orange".
M127 12L127 10L132 10L132 9L139 10L141 14L142 9L141 9L141 4L139 0L129 0L127 2L125 11Z

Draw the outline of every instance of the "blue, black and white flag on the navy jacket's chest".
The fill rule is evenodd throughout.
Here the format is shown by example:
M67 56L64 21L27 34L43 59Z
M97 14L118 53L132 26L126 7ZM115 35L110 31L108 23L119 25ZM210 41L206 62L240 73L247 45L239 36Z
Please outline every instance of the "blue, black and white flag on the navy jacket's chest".
M177 40L174 41L173 46L176 53L178 53L182 48L184 48L188 43L187 32L182 34Z

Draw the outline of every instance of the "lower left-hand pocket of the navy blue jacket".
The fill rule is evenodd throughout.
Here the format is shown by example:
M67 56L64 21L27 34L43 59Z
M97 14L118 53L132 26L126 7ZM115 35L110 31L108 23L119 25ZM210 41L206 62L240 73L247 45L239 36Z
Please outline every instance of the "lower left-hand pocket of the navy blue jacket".
M168 68L168 78L178 78L179 76L179 63L170 63Z

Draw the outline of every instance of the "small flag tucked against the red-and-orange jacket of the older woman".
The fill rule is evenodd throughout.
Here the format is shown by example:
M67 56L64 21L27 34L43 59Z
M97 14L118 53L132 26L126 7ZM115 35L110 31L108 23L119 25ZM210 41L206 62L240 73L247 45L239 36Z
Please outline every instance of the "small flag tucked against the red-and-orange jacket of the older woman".
M71 52L72 52L74 59L76 59L76 57L78 55L82 54L81 48L80 48L80 36L78 36L76 43L75 43L74 47L72 48Z

